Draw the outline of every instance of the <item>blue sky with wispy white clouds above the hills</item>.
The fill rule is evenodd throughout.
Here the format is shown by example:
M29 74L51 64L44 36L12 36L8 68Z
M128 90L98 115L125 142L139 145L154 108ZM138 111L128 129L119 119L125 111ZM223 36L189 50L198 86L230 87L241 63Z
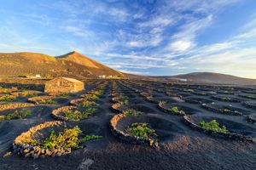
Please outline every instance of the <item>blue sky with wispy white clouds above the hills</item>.
M1 0L0 52L78 51L113 69L256 78L255 0Z

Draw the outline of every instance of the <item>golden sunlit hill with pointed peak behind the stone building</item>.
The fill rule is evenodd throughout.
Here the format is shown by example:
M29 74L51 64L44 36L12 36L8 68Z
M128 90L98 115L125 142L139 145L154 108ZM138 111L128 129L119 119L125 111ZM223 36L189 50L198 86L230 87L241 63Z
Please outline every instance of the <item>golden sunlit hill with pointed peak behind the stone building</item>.
M97 77L121 75L106 65L78 52L58 57L37 53L0 53L0 76Z

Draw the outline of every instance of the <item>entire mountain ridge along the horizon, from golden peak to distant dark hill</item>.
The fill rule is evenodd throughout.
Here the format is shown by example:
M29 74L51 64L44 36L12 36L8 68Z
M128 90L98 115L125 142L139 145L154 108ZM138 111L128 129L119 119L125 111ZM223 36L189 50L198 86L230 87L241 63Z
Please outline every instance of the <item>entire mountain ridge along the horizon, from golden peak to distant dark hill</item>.
M103 65L77 51L55 57L48 54L31 52L0 53L0 65L1 77L35 76L39 74L43 77L74 77L84 79L106 75L162 82L256 85L255 79L214 72L192 72L162 77L132 75L115 71L107 65Z

